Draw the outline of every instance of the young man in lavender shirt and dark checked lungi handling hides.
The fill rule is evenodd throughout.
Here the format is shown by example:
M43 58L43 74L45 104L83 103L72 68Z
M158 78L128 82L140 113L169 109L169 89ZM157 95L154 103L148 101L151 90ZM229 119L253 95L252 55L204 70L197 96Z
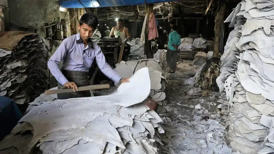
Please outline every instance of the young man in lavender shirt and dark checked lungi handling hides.
M78 24L79 33L63 40L61 45L49 59L47 66L51 74L58 81L58 89L61 87L73 88L72 93L57 94L58 99L89 97L89 91L78 91L77 86L87 86L88 70L96 59L100 70L109 79L116 83L128 82L129 78L121 78L106 62L101 48L90 39L98 19L93 13L86 13L80 18ZM59 69L59 62L63 61L63 67Z

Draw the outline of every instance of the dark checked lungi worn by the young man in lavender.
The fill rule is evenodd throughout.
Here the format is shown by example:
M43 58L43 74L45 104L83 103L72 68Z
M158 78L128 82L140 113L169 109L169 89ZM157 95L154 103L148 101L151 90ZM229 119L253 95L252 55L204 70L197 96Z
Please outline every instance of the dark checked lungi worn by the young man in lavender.
M89 85L88 72L63 70L62 73L69 82L74 82L77 87ZM58 83L58 89L61 89L62 87L63 85L61 83ZM57 94L58 99L69 99L90 96L90 91L76 91Z

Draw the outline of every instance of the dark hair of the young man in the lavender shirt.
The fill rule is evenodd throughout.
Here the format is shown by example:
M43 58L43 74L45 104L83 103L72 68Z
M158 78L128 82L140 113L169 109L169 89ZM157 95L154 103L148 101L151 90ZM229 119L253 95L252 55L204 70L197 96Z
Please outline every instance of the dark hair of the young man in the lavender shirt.
M82 26L84 23L92 28L96 28L98 25L98 18L92 12L85 13L80 18L79 24Z

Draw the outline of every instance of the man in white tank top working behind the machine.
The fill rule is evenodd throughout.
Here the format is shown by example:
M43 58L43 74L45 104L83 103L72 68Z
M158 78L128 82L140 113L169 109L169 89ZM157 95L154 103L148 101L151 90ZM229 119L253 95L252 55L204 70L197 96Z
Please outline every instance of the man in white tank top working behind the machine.
M109 37L115 35L116 38L118 38L118 30L120 30L120 38L125 40L126 38L130 38L129 36L129 30L123 26L123 20L118 19L117 20L117 26L112 27Z

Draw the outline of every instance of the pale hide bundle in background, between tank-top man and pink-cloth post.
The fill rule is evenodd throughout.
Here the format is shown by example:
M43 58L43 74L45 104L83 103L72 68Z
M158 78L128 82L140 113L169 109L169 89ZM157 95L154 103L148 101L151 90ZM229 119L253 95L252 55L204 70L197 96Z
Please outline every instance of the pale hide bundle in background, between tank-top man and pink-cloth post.
M145 45L141 43L140 38L130 39L128 44L130 45L128 61L141 59L145 55Z

